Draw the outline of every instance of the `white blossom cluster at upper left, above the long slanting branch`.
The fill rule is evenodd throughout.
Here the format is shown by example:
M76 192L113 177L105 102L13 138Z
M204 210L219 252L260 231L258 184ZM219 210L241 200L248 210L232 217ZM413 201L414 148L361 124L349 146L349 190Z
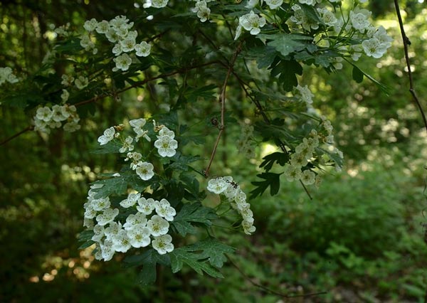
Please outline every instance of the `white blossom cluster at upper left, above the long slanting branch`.
M154 1L152 1L154 3ZM84 28L88 31L80 39L80 46L85 50L92 50L93 53L97 53L95 48L95 36L93 33L96 31L99 34L105 35L108 41L115 43L112 48L115 58L115 68L117 70L128 70L132 64L132 58L129 55L131 52L135 52L135 55L139 57L147 57L151 51L149 43L142 41L137 43L136 38L138 36L137 31L131 31L133 22L129 22L129 19L125 16L116 16L110 21L102 20L98 22L95 18L85 22Z

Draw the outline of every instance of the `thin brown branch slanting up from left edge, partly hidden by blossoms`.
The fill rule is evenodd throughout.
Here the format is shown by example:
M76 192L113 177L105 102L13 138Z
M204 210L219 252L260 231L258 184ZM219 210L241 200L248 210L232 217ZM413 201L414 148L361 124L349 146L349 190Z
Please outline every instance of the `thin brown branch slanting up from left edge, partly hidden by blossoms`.
M127 90L131 90L132 88L144 85L144 84L149 83L149 82L154 81L154 80L158 80L158 79L162 79L162 78L167 78L167 77L170 77L172 75L176 75L176 74L179 74L179 73L184 73L184 72L186 72L188 70L194 70L196 68L203 68L204 66L213 65L213 64L218 64L218 61L211 61L211 62L204 63L204 64L201 64L201 65L194 65L194 66L191 66L189 68L181 68L180 70L176 70L176 71L174 71L172 73L165 73L165 74L161 74L161 75L158 75L156 77L153 77L153 78L141 80L141 81L138 81L138 82L136 82L136 83L134 83L134 84L132 84L132 85L130 85L128 87L123 88L122 90L118 90L117 92L115 92L115 95L120 94L122 92L125 92ZM79 107L79 106L86 105L86 104L89 104L89 103L92 103L92 102L96 102L97 100L101 100L101 99L103 99L105 97L109 97L110 95L111 95L111 93L107 93L107 94L95 96L95 97L92 97L92 98L90 98L88 100L84 100L84 101L75 103L74 106L75 107ZM4 141L1 141L0 142L0 146L3 145L3 144L6 144L7 142L11 141L12 139L15 139L16 137L19 137L24 132L27 132L28 130L32 130L32 129L34 129L34 127L32 125L29 125L25 129L21 130L21 132L19 132L17 134L14 134L13 136L11 136L11 137L9 137L7 139L4 139Z

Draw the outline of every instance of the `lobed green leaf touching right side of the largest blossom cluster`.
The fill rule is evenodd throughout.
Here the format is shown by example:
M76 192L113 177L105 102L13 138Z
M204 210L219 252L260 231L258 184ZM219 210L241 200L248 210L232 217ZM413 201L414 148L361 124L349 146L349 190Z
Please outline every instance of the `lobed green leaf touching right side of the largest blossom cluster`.
M180 235L185 236L187 233L196 233L196 229L192 223L209 227L212 225L211 220L216 218L218 216L216 216L212 208L202 206L198 202L185 203L172 221L172 226L174 226Z

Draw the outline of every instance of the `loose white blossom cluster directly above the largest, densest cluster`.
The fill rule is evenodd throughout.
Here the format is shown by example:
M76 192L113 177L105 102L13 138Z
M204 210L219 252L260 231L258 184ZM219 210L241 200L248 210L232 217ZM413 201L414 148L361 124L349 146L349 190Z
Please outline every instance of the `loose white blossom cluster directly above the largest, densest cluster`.
M98 137L97 142L100 145L105 145L113 139L120 138L122 140L122 147L120 147L120 153L127 153L125 161L130 161L130 168L144 181L152 179L154 176L153 164L143 161L142 154L135 150L135 142L139 141L139 138L144 138L147 142L151 142L151 138L148 136L148 131L144 129L147 120L144 118L130 120L129 124L135 132L135 137L127 136L122 139L120 132L116 129L122 129L123 126L109 127L104 130L104 133ZM171 157L176 154L176 148L178 148L178 142L174 139L175 133L165 127L164 125L157 125L153 122L154 132L159 132L157 140L154 142L154 147L157 148L157 152L162 157Z

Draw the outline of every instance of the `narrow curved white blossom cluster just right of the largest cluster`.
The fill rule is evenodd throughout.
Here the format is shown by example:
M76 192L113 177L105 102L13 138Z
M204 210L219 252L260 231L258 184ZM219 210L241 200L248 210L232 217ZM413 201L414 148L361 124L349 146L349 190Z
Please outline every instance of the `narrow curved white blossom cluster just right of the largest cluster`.
M243 218L241 225L246 235L251 235L256 228L253 226L253 213L251 204L246 201L246 193L243 193L240 186L233 181L231 176L223 176L211 179L208 182L208 191L224 196L231 202L231 207L235 209Z

